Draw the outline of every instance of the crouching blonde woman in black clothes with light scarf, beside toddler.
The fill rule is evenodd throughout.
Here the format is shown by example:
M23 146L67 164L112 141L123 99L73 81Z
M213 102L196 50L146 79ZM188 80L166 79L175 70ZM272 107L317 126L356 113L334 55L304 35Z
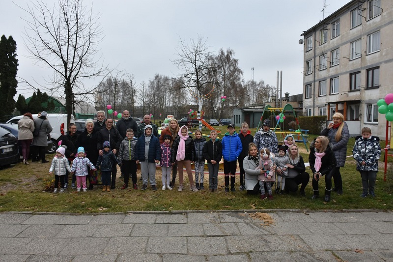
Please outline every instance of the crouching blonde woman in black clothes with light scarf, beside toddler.
M300 184L300 195L306 196L305 189L309 183L310 175L305 172L306 167L304 165L303 157L299 154L299 148L296 144L292 144L288 148L289 162L288 176L285 178L285 190L290 192L298 191Z

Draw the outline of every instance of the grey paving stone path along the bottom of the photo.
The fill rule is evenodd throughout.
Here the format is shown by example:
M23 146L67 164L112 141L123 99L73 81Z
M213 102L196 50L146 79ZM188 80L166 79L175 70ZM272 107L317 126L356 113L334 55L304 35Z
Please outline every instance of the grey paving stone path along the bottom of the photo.
M0 213L0 261L393 261L393 213Z

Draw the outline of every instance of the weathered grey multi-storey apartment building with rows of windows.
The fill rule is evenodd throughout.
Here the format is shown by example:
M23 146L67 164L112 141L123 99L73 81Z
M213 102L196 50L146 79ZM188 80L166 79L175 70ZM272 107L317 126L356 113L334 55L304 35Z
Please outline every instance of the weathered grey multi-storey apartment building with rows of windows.
M344 115L352 135L364 126L385 137L377 101L393 92L393 1L352 0L304 31L308 116Z

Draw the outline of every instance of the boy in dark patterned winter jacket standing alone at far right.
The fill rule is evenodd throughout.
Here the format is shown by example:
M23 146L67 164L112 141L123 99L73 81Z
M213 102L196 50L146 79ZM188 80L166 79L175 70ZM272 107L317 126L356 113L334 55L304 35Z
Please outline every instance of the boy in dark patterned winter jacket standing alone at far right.
M356 160L356 170L362 176L363 193L360 197L365 198L368 194L375 197L374 186L381 157L379 137L371 136L371 129L363 127L362 136L356 137L352 154Z

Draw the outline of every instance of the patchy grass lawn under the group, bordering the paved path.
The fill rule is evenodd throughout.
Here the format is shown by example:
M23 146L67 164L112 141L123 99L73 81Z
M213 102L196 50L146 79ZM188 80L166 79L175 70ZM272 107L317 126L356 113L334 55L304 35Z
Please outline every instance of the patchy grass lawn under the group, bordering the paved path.
M222 133L226 132L226 127L218 127ZM208 134L208 130L202 130ZM255 129L252 129L252 134ZM309 141L316 136L309 136ZM279 139L280 140L280 139ZM281 139L282 140L282 139ZM355 139L351 138L348 143L347 155L352 155L352 146ZM301 148L305 162L308 162L308 152L304 144L298 143ZM381 142L381 147L385 142ZM51 160L53 155L47 155ZM381 157L383 160L383 156ZM274 194L274 200L261 201L256 196L248 196L246 192L241 192L239 188L239 178L236 177L236 192L224 193L224 176L219 175L218 193L208 192L208 175L205 175L205 190L191 192L187 175L184 174L185 189L183 192L177 191L179 185L178 178L176 187L169 191L161 190L161 171L156 172L157 191L152 191L150 187L146 191L119 189L123 185L120 178L116 179L116 189L112 192L102 192L102 186L95 186L94 190L86 193L77 193L71 188L64 194L53 194L54 178L48 175L50 163L40 162L30 163L30 165L17 164L11 168L0 170L0 212L3 211L36 211L36 212L126 212L126 211L170 211L170 210L233 210L233 209L271 209L271 208L300 208L300 209L393 209L393 182L392 163L393 157L389 158L391 164L387 181L383 180L383 162L379 163L380 172L377 175L375 198L360 198L362 193L362 182L359 172L356 171L356 164L352 157L347 158L344 168L341 168L343 177L344 194L337 196L332 192L332 201L324 203L322 199L312 201L311 181L306 188L306 197L301 197L299 193L291 193L279 196ZM222 171L222 170L220 170ZM308 169L308 172L310 170ZM118 176L120 170L118 170ZM138 185L142 183L139 180ZM130 184L132 184L130 179ZM320 188L324 188L324 179L320 180ZM323 195L323 194L322 194ZM322 197L322 196L321 196ZM322 197L323 198L323 197Z

